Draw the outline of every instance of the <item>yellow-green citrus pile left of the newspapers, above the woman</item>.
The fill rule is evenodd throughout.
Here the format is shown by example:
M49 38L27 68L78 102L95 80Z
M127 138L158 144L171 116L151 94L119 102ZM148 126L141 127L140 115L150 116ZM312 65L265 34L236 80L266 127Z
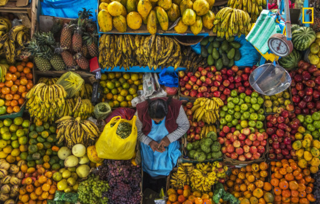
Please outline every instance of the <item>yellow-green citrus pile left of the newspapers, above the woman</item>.
M109 72L102 74L100 86L103 88L103 101L111 108L131 107L131 100L142 90L142 73Z

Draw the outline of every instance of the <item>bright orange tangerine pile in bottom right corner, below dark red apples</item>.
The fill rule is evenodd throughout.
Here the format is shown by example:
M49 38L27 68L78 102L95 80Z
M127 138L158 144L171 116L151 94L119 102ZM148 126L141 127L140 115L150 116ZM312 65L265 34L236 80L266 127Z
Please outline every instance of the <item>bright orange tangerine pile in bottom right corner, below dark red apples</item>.
M281 162L271 162L271 173L274 204L309 204L316 201L312 194L315 179L309 169L300 169L292 159L282 159Z

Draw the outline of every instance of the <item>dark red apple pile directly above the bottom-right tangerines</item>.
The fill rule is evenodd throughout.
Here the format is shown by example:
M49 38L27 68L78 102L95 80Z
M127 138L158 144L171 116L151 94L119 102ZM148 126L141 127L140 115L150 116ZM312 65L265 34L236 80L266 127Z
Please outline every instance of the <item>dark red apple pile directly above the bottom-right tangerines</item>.
M296 159L291 144L295 140L300 121L294 113L283 111L281 114L269 115L266 133L269 135L269 159Z

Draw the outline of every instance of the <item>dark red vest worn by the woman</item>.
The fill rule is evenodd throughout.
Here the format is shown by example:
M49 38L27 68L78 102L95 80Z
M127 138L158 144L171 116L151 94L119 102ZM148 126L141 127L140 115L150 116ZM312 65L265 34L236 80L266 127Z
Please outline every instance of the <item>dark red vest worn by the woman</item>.
M150 100L152 101L155 99L158 99L158 98L152 98ZM161 98L161 99L167 101L168 98ZM168 114L165 117L165 127L169 133L173 132L178 127L176 120L179 116L181 104L182 104L181 101L177 99L172 99L171 103L168 106ZM136 108L137 108L139 120L142 122L142 132L143 134L148 135L151 131L151 126L152 126L151 117L148 114L148 101L138 103Z

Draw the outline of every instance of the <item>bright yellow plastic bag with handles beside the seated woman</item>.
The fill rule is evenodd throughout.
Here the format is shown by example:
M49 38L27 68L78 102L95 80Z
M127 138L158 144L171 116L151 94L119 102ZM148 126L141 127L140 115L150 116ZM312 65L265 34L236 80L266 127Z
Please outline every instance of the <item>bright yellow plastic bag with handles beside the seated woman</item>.
M133 157L138 136L137 127L135 126L136 118L136 116L133 116L131 120L127 120L117 116L113 117L105 125L96 142L96 152L99 158L128 160ZM132 126L131 134L126 139L122 139L116 133L120 122L128 122ZM111 127L113 123L116 124Z

